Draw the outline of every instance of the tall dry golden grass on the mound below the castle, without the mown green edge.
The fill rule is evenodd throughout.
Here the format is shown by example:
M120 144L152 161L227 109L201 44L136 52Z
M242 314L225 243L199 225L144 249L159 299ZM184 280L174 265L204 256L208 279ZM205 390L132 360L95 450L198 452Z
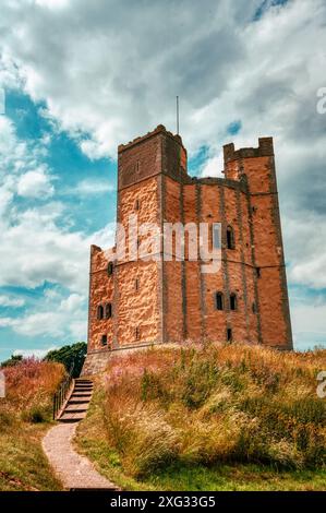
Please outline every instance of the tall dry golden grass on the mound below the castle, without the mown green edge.
M325 465L325 369L326 350L244 345L116 357L105 375L108 442L134 476L176 461Z

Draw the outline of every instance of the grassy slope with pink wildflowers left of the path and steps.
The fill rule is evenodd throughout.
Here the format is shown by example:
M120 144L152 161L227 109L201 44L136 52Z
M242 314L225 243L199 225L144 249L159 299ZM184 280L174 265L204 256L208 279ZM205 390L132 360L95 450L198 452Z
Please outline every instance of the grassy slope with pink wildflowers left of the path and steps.
M51 396L63 378L60 363L23 360L3 369L0 398L0 491L59 490L41 439L51 420Z

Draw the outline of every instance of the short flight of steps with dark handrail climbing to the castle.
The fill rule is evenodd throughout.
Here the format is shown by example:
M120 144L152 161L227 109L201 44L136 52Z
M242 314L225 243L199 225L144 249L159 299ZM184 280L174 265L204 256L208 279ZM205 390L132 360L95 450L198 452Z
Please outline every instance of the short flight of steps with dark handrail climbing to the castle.
M60 422L79 422L86 416L93 394L93 382L79 378L74 382L73 392L58 419Z

